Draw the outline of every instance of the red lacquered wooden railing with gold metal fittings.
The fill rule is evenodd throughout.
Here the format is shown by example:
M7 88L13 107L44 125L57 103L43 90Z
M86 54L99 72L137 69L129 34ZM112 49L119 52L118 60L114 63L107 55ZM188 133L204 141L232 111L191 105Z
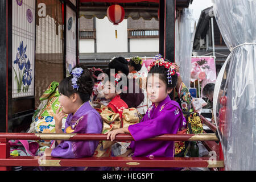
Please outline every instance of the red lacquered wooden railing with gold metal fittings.
M146 158L146 157L89 157L62 159L39 156L10 156L8 140L107 140L104 134L53 134L53 133L0 133L0 169L11 166L62 166L62 167L207 167L223 168L224 161L215 158ZM133 140L128 134L119 134L116 141ZM215 134L165 134L147 140L218 141ZM213 159L213 160L212 160Z

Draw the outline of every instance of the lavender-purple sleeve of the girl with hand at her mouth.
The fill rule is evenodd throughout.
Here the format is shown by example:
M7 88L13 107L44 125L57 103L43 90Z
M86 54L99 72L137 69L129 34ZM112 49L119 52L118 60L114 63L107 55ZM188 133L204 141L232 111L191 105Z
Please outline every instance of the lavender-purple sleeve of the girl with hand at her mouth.
M101 133L102 120L97 111L91 111L79 121L73 133ZM83 158L92 156L98 141L62 141L51 152L53 157Z

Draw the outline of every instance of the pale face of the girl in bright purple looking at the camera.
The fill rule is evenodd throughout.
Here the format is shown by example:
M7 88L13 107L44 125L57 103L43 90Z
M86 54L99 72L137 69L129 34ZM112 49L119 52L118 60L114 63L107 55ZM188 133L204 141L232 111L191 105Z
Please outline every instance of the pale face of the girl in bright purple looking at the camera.
M147 97L152 103L158 105L163 101L172 89L167 90L167 85L154 74L147 77Z

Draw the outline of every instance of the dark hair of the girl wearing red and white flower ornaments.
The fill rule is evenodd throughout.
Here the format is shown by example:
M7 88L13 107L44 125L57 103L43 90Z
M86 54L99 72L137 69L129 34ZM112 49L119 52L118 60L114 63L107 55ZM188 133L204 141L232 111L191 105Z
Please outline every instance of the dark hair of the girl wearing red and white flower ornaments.
M170 62L169 60L165 59L164 61ZM171 89L171 88L175 88L175 86L177 85L177 74L175 73L175 75L172 75L172 84L168 84L168 78L167 78L167 73L168 73L168 69L164 68L164 66L160 66L158 67L158 65L156 67L152 67L150 69L150 71L148 72L148 74L152 74L154 75L155 73L159 74L159 79L161 79L164 84L166 84L166 88L167 89Z

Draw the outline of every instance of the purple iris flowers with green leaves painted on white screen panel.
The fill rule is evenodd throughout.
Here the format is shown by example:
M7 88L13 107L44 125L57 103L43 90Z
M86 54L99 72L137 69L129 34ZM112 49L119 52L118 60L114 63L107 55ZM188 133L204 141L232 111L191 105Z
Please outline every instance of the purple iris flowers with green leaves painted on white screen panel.
M32 69L31 61L27 59L26 55L27 46L23 46L23 41L19 44L18 53L16 53L16 60L14 64L18 64L18 69L13 67L14 70L14 82L18 93L28 92L28 88L32 82Z

